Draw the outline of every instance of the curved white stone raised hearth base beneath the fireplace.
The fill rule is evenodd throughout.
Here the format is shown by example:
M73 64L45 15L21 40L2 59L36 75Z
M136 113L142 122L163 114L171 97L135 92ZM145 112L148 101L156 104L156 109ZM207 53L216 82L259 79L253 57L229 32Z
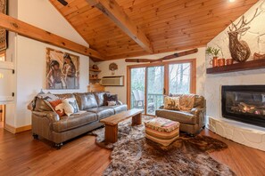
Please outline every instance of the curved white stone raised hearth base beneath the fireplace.
M225 118L207 116L206 127L228 140L265 151L265 129Z

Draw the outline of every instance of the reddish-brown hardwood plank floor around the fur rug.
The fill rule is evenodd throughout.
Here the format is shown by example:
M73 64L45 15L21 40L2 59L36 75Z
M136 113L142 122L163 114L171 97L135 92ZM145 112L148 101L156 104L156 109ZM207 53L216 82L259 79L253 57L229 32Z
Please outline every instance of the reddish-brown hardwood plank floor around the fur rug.
M204 130L222 140L228 149L211 153L237 175L265 175L265 152L248 148ZM95 145L95 137L83 135L60 150L52 143L33 140L30 132L12 134L0 129L0 175L100 175L110 163L111 151Z

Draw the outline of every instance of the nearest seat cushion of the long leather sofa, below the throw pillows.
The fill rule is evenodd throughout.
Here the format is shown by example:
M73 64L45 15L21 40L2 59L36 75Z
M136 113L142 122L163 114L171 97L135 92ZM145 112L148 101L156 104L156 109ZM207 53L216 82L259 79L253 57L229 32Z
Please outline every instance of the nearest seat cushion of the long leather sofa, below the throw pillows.
M60 121L53 123L54 132L65 132L95 121L97 121L97 116L95 113L91 112L84 112L72 116L62 116Z

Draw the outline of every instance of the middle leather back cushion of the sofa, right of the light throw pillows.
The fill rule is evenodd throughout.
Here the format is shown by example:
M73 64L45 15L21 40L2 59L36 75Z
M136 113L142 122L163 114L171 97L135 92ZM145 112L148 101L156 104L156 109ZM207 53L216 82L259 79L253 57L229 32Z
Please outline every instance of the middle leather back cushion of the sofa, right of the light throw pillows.
M79 110L86 110L87 108L97 108L97 102L93 93L74 93L79 104Z

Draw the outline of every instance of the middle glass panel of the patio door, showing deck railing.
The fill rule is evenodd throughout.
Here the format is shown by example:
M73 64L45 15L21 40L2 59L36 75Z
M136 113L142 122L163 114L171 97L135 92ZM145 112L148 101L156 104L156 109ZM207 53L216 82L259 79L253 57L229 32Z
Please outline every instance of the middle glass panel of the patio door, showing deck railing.
M163 104L164 66L147 68L147 112L154 115L155 110Z

